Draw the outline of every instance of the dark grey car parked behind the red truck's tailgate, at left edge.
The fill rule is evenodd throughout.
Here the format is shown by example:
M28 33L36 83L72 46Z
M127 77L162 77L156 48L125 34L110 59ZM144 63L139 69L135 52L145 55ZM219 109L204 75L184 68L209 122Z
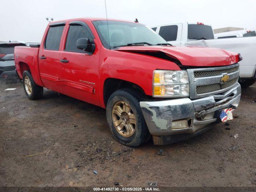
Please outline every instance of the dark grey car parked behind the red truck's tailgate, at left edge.
M26 46L22 42L8 41L0 42L0 79L17 78L16 67L14 63L14 47Z

